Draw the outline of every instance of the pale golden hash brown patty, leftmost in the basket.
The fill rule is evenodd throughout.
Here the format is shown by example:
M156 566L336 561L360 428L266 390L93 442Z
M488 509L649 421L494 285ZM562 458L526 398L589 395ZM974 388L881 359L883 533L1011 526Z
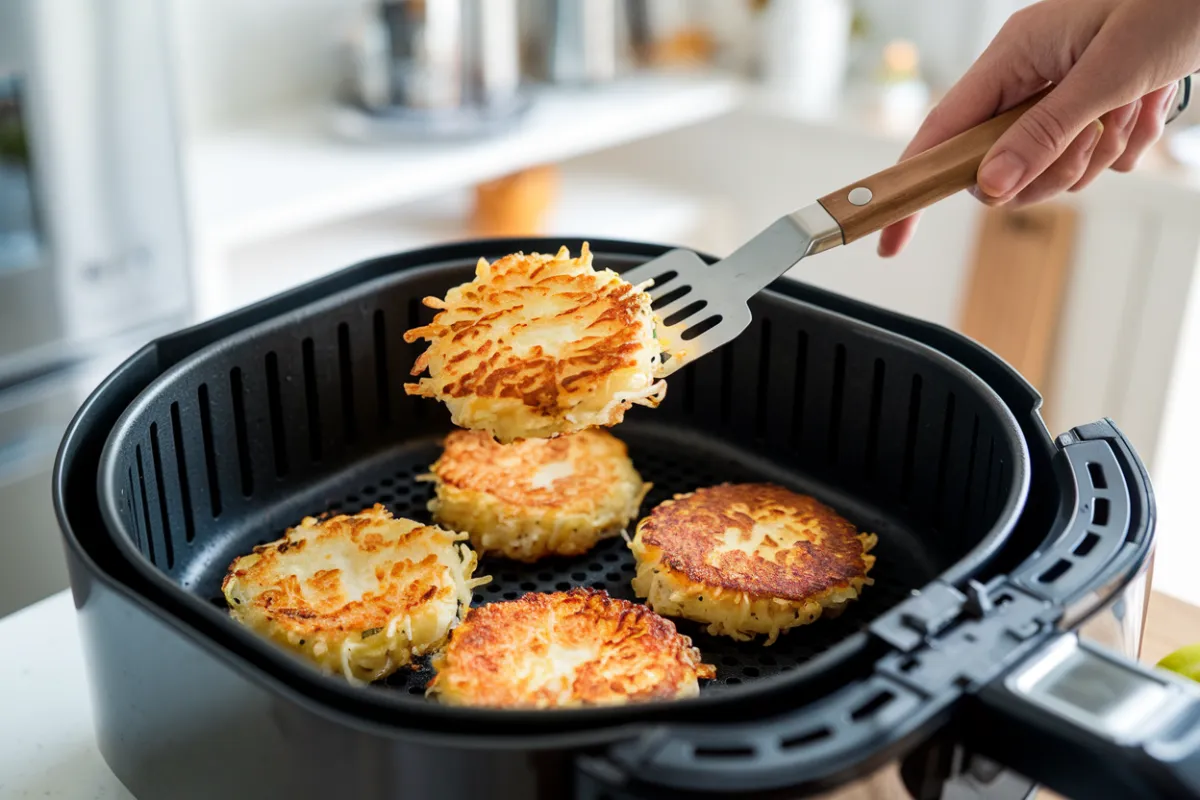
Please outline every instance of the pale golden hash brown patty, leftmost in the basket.
M382 505L325 521L234 559L234 619L350 682L378 680L445 642L470 604L475 554L456 534Z

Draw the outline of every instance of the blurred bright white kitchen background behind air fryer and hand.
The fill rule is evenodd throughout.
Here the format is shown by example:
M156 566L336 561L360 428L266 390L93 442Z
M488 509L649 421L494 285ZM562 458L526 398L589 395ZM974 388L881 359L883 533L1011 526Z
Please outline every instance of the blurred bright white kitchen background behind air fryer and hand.
M360 259L480 235L730 252L895 161L1021 0L5 0L0 615L66 587L49 470L146 339ZM1151 465L1156 588L1200 602L1200 119L1014 212L798 279L983 341L1052 431Z

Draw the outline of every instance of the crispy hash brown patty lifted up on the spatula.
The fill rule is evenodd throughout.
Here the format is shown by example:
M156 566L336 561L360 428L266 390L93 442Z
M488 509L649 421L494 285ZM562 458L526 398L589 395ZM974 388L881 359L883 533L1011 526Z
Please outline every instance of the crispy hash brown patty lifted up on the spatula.
M658 405L661 349L650 296L578 258L514 253L444 300L433 321L404 333L428 348L409 395L445 403L454 423L500 441L617 425L634 403Z

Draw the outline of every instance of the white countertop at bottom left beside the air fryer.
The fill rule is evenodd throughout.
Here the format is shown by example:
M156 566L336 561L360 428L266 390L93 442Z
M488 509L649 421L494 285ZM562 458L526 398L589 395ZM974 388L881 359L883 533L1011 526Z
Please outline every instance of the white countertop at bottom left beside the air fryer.
M0 619L0 800L132 799L96 748L71 593Z

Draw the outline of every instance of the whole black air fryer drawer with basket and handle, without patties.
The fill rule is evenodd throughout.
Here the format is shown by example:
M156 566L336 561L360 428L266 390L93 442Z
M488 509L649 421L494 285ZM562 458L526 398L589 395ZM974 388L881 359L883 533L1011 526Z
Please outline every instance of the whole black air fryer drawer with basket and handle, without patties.
M1037 393L983 348L788 279L613 433L654 483L643 513L772 481L878 534L875 585L840 618L769 648L679 622L718 666L700 697L539 712L438 705L427 670L352 687L232 621L226 566L301 517L379 501L427 519L415 476L450 422L404 395L419 345L401 335L480 257L563 243L582 242L359 264L149 344L88 401L55 503L100 748L138 798L797 798L896 765L917 798L1033 780L1196 794L1200 692L1128 660L1154 505L1124 437L1100 421L1051 439ZM592 247L618 271L666 251ZM475 604L634 599L620 540L480 573L496 579Z

